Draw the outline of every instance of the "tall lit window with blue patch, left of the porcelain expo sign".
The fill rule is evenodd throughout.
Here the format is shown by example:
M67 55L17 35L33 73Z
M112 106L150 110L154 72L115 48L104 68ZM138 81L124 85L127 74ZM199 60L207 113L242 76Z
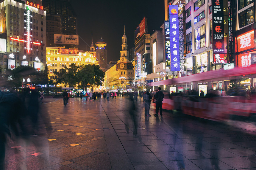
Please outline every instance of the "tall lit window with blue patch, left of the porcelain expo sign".
M205 24L195 30L195 50L205 47Z

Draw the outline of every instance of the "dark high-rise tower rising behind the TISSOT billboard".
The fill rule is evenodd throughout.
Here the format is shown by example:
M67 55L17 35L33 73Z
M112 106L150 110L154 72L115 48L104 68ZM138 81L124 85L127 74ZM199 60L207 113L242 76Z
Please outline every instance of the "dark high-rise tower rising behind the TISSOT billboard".
M77 15L69 0L43 0L46 10L47 47L55 47L54 34L77 35ZM68 48L78 45L66 44Z

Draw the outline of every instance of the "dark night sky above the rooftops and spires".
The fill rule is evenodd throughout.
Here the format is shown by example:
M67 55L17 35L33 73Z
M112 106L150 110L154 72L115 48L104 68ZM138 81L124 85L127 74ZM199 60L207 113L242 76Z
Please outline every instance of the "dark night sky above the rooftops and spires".
M128 49L134 46L134 31L147 18L148 33L161 30L164 23L164 0L71 0L78 17L78 35L90 46L91 31L93 44L100 39L107 42L107 62L118 60L122 36L127 36ZM90 48L79 38L79 49ZM96 46L95 46L96 47Z

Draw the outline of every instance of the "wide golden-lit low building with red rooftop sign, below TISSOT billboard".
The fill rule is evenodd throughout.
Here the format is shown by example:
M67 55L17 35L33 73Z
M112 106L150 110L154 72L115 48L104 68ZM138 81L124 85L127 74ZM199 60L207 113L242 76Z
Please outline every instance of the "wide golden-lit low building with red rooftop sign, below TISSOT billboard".
M64 69L71 63L77 66L81 64L99 64L96 56L88 51L77 49L65 49L63 47L46 47L46 60L50 79L54 79L54 72Z

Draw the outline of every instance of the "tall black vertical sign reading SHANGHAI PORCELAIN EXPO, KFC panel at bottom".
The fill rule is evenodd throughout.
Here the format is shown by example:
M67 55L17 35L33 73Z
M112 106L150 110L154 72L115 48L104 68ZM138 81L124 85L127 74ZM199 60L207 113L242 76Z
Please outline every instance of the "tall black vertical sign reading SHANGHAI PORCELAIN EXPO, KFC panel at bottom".
M225 2L226 3L226 2ZM227 54L227 8L224 0L212 0L213 17L213 63L228 63Z

